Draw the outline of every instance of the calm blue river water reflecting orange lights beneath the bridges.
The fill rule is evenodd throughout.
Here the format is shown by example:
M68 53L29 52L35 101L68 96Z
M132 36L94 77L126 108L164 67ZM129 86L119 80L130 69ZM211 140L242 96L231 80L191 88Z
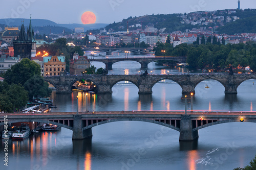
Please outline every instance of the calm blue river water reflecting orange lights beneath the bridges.
M97 68L104 64L93 62ZM140 64L133 61L113 64L109 74L140 74ZM151 74L182 74L182 68L148 64ZM169 71L169 72L168 72ZM213 80L196 87L193 110L256 111L255 80L243 82L237 95L225 95L221 83ZM210 88L204 88L207 84ZM184 110L181 87L163 80L153 87L153 94L139 95L130 82L119 82L112 95L72 92L56 94L52 112L76 111L156 111ZM191 109L191 100L187 100ZM0 169L233 169L248 165L256 154L256 124L227 123L199 130L199 139L179 142L179 132L145 122L114 122L92 128L93 137L72 141L72 131L41 132L24 141L9 140L9 166ZM0 154L4 154L4 140ZM3 159L3 157L2 157Z

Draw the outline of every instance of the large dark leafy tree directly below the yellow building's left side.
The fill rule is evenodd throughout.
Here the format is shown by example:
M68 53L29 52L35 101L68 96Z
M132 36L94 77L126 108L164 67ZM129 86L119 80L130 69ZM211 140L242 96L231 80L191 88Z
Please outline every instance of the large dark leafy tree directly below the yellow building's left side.
M24 83L34 75L40 75L40 71L41 68L39 64L30 61L28 58L24 58L6 71L5 81L8 84L14 83L24 85Z

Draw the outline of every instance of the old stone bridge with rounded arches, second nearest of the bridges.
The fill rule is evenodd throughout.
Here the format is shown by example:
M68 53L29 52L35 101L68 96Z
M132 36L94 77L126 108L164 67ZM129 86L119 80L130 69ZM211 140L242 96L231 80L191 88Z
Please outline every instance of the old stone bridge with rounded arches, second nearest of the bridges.
M151 94L152 87L161 80L172 80L180 85L182 94L195 94L195 87L204 80L216 80L225 87L225 94L237 94L238 86L256 75L83 75L83 76L47 76L45 81L55 86L57 93L72 92L72 85L81 79L92 81L96 85L96 92L101 94L112 93L112 87L120 81L129 81L139 89L139 94Z

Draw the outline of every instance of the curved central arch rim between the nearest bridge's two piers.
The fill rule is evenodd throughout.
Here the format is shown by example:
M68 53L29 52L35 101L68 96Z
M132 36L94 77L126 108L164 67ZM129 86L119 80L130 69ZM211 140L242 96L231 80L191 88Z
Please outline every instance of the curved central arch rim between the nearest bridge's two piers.
M102 122L95 123L95 124L89 125L89 126L87 126L87 127L84 127L84 128L82 128L82 130L87 130L87 129L90 129L90 128L93 128L93 127L95 127L95 126L102 125L102 124L107 124L107 123L111 123L111 122L120 122L120 121L140 121L140 122L148 122L148 123L153 123L153 124L162 125L162 126L165 126L165 127L168 127L168 128L171 128L171 129L174 129L174 130L180 132L180 129L179 129L179 128L174 127L174 126L172 126L172 125L168 125L168 124L165 124L165 123L162 123L162 122L158 122L158 121L156 121L156 120L142 119L142 118L117 118L117 119L109 119L109 120L104 120L104 121L102 121Z

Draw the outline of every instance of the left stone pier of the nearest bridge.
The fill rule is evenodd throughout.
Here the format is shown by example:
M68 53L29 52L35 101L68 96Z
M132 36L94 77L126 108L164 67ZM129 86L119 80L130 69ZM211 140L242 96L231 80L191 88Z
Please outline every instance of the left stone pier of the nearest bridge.
M74 127L72 140L84 139L93 135L92 128L82 130L82 119L81 115L74 115Z

